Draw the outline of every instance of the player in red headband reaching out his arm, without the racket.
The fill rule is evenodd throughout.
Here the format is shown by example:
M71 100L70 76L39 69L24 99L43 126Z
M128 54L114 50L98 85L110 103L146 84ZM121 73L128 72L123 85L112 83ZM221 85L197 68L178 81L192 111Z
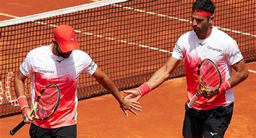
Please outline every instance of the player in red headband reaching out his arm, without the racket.
M248 77L248 70L237 42L212 25L215 6L210 0L197 0L192 5L193 30L181 35L171 58L152 77L137 89L126 91L127 97L138 101L143 95L168 80L182 59L185 61L187 102L183 123L184 137L223 137L233 113L233 88ZM223 84L219 92L200 95L188 108L198 91L197 67L201 60L217 64ZM235 73L232 75L232 68Z

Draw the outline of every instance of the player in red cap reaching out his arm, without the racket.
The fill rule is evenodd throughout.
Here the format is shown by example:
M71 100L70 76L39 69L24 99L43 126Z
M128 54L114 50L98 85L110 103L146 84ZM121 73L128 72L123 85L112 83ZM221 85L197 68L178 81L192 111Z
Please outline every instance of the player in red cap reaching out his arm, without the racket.
M31 137L76 137L77 135L77 80L82 72L94 77L116 98L126 116L129 110L141 111L137 101L124 98L117 87L99 69L90 56L79 50L76 34L71 26L60 25L53 33L52 44L31 50L15 75L15 93ZM57 111L46 120L32 120L31 109L25 96L25 80L32 74L31 107L41 89L48 84L58 84L60 102Z

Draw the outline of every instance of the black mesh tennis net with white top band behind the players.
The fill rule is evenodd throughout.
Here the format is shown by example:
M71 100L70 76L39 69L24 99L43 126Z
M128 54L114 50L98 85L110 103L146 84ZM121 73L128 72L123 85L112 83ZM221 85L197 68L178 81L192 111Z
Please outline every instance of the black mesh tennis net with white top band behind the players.
M255 61L254 1L213 1L214 26L237 40L246 61ZM0 116L19 113L14 75L26 54L51 44L53 29L69 24L87 52L119 90L137 87L167 61L178 37L191 30L193 1L110 0L0 22ZM185 75L183 61L172 74ZM31 77L26 81L30 102ZM90 75L78 81L78 98L108 93Z

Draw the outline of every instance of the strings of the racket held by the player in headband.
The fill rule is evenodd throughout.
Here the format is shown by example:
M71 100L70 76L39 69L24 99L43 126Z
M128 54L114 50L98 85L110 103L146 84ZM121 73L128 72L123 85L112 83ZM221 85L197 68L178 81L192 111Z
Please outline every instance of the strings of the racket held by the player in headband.
M219 73L211 63L205 61L201 65L200 78L202 84L208 91L216 91L219 88Z

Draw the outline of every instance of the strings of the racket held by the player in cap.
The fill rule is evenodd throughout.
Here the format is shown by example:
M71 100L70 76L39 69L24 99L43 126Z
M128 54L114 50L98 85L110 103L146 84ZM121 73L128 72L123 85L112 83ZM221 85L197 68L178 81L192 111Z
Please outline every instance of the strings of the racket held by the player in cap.
M46 88L41 96L41 99L38 102L38 106L36 109L36 114L38 118L44 119L51 115L56 107L57 101L57 88L55 86L50 86Z

